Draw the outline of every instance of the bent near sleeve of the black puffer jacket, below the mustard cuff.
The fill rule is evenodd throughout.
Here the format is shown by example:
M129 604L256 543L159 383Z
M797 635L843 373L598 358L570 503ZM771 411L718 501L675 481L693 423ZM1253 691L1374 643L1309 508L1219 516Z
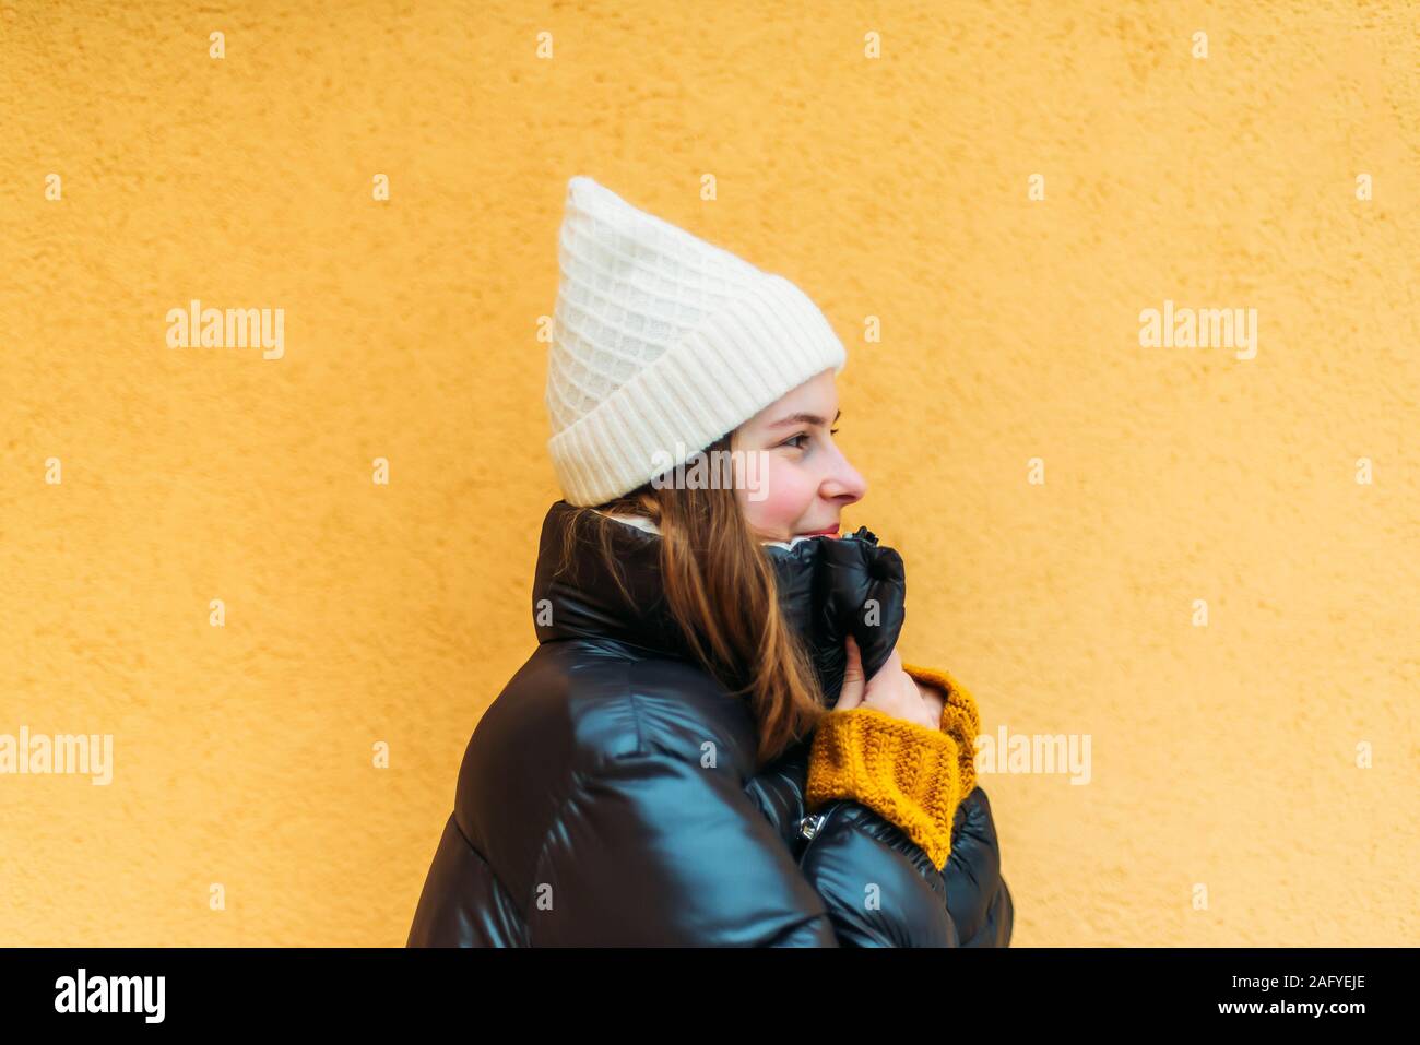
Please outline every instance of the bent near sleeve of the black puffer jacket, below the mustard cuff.
M795 852L737 774L686 754L604 758L578 778L538 859L532 946L960 943L923 848L856 799L831 799Z

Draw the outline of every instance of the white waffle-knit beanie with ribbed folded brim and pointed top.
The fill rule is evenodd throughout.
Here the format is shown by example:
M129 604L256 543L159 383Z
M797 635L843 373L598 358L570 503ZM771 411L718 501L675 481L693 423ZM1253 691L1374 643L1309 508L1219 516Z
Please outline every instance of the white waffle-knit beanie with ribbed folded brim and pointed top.
M569 504L635 490L846 363L792 283L582 175L567 183L558 263L545 399Z

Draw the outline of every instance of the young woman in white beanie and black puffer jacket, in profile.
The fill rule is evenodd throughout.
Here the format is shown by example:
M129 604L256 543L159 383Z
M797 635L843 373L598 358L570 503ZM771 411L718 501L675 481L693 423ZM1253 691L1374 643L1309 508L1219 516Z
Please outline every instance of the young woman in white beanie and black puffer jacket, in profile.
M567 204L538 647L408 944L1007 946L974 701L902 662L897 552L839 537L842 344L591 179Z

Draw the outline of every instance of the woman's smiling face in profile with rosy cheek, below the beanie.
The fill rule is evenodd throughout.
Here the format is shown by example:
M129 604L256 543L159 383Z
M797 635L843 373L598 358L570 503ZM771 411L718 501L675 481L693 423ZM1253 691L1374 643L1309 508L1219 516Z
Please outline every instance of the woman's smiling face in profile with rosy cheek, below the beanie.
M831 531L839 513L868 493L868 483L834 444L838 389L834 371L824 371L765 406L730 437L731 450L746 452L751 481L734 496L750 527L764 540ZM758 452L758 453L755 453ZM753 456L753 461L750 460Z

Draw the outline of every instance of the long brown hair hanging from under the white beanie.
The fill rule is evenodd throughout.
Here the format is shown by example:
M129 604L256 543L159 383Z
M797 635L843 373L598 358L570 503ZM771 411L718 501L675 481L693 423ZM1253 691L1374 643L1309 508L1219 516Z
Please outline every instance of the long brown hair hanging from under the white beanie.
M706 447L709 463L731 460L730 436ZM758 724L758 761L767 765L805 737L826 710L802 642L790 629L778 601L774 567L750 528L734 490L711 483L680 488L649 481L595 507L575 508L562 545L561 569L577 554L578 535L591 522L595 549L622 593L612 552L612 527L598 515L643 515L660 530L660 576L666 603L701 666L731 696L748 701Z

